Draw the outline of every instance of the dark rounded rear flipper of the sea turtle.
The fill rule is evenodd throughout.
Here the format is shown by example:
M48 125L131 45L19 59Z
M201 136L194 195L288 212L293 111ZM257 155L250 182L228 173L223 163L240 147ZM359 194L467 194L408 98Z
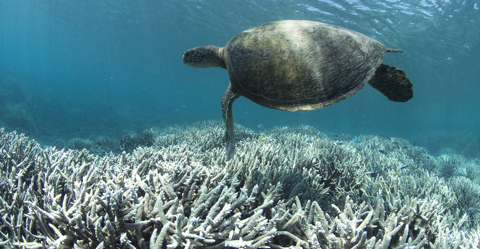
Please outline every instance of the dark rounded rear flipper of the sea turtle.
M389 100L407 102L413 97L412 83L403 70L382 64L368 82Z

